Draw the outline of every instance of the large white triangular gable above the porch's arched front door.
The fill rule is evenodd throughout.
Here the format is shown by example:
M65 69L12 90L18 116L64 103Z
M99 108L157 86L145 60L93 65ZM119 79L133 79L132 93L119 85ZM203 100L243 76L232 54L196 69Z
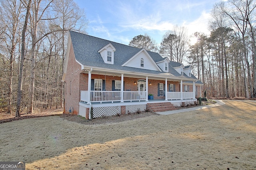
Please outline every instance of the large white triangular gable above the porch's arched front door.
M137 52L134 56L131 56L122 66L161 71L145 48Z

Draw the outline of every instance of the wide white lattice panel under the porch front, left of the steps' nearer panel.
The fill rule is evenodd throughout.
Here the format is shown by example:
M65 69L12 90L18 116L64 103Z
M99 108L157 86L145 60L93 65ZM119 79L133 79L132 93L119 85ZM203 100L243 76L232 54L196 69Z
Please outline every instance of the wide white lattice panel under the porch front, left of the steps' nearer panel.
M120 113L121 113L121 106L93 108L93 118L99 118L102 116L113 116Z

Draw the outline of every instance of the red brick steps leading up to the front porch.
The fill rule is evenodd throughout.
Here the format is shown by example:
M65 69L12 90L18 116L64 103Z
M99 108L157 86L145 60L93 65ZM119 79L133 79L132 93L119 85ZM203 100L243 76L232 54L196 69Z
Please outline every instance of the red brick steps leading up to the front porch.
M165 112L170 110L177 110L175 106L173 106L170 102L164 102L164 103L148 103L147 109L150 112Z

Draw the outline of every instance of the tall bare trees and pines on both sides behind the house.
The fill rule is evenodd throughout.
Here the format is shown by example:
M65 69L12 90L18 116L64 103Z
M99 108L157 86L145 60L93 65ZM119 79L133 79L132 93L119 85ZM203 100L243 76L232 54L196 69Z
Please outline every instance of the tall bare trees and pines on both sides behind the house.
M130 46L190 64L208 97L256 97L254 0L229 0L212 8L210 35L170 28L162 42L138 35ZM20 116L63 108L61 82L68 31L89 23L73 0L0 0L0 109ZM193 41L192 40L196 40Z

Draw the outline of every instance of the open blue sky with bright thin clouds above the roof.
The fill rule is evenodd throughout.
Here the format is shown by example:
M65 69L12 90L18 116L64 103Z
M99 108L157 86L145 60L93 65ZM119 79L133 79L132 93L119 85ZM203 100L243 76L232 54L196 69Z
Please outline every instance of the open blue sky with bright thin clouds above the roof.
M166 31L185 26L188 34L208 31L213 5L220 0L74 0L86 12L88 35L128 45L148 34L159 45Z

